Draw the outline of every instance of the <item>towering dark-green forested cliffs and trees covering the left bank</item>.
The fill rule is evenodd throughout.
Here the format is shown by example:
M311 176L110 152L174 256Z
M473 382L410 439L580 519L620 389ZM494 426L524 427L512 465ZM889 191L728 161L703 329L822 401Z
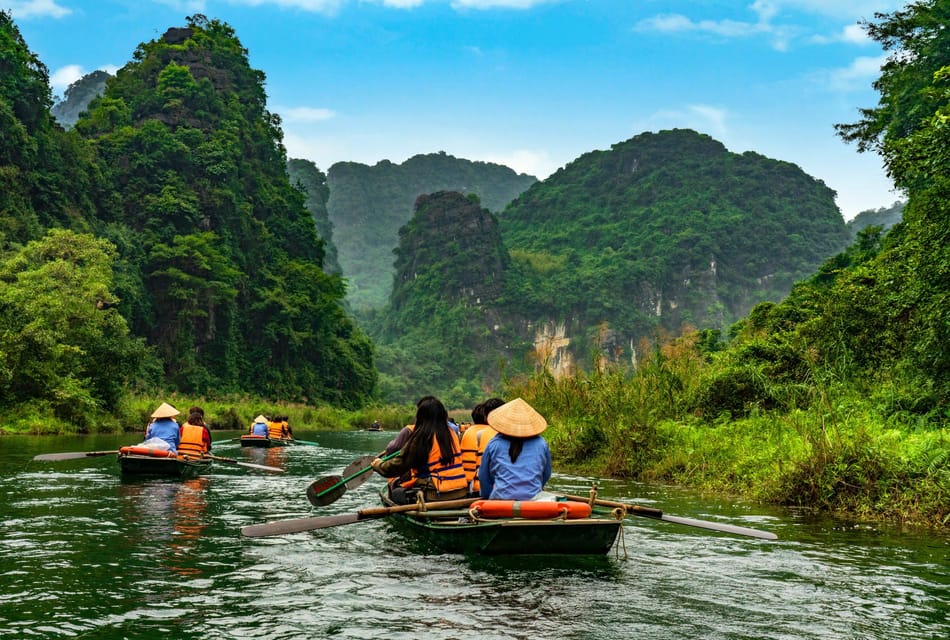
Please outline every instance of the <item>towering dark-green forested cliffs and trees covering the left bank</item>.
M66 132L45 66L0 16L0 404L80 427L115 419L116 385L364 404L372 345L323 269L264 76L232 29L194 16L140 45ZM31 297L39 274L48 298ZM83 304L86 324L70 311ZM24 378L30 357L41 371Z

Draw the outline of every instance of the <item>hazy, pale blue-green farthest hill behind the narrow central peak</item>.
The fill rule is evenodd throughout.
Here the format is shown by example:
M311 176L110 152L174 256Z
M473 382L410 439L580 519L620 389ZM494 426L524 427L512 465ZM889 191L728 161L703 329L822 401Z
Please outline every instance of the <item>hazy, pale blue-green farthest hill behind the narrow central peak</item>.
M347 300L354 308L380 308L392 288L399 228L412 217L419 195L474 193L497 213L537 179L502 165L440 152L413 156L402 164L338 162L327 172L327 181L330 221L348 281Z

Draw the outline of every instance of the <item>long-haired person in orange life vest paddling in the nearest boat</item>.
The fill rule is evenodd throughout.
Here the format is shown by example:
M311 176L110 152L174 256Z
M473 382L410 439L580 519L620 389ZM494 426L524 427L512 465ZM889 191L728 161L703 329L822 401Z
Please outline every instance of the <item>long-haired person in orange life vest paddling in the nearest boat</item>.
M445 405L433 396L417 404L416 421L407 427L410 434L402 453L389 460L376 458L373 469L393 480L389 494L393 502L408 504L419 491L427 502L464 498L468 493L462 450L458 436L449 428Z

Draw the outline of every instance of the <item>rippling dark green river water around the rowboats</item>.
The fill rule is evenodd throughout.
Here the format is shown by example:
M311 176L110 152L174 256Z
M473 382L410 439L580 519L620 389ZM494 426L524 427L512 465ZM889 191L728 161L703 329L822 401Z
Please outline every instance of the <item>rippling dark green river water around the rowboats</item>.
M386 520L243 538L244 525L377 506L373 478L310 506L392 433L298 433L321 446L250 450L215 432L186 480L123 481L113 456L34 455L126 436L0 438L0 638L950 638L950 540L668 487L555 473L548 488L776 533L774 542L627 518L604 558L425 553Z

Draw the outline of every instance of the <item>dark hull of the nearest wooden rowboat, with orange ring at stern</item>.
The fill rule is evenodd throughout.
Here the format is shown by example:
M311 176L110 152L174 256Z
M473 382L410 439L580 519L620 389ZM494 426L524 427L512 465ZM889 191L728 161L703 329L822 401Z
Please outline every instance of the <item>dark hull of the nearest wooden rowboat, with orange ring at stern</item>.
M381 498L387 507L395 506L385 493ZM393 513L389 522L425 546L446 553L604 555L617 538L620 518L601 509L578 519L473 518L470 510L442 511L438 503L430 502L426 511Z

